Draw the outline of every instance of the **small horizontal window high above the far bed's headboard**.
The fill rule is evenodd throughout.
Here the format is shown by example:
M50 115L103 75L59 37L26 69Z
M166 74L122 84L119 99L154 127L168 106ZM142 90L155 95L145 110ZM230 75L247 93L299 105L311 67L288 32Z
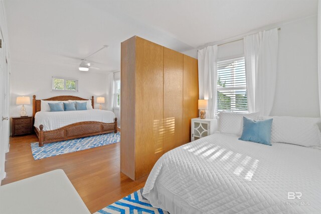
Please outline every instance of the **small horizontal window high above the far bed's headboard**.
M52 91L78 92L78 80L52 77Z

